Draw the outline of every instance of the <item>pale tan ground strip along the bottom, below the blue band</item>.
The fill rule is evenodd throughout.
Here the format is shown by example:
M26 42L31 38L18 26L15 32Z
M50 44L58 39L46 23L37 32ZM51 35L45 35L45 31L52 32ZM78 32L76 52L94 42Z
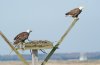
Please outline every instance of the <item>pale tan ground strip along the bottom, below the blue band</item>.
M31 62L28 62L29 65L32 65ZM7 61L0 62L0 65L24 65L20 61ZM38 65L41 65L39 62ZM46 65L100 65L100 61L49 61Z

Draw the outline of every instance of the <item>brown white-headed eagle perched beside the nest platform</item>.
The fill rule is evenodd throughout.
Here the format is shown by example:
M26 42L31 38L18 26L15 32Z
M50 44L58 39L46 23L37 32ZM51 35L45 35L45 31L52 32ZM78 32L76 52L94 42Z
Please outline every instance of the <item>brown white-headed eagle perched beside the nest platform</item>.
M14 38L14 44L18 44L19 42L25 42L25 40L28 39L30 32L32 32L32 31L27 30L26 32L22 32L22 33L18 34Z

